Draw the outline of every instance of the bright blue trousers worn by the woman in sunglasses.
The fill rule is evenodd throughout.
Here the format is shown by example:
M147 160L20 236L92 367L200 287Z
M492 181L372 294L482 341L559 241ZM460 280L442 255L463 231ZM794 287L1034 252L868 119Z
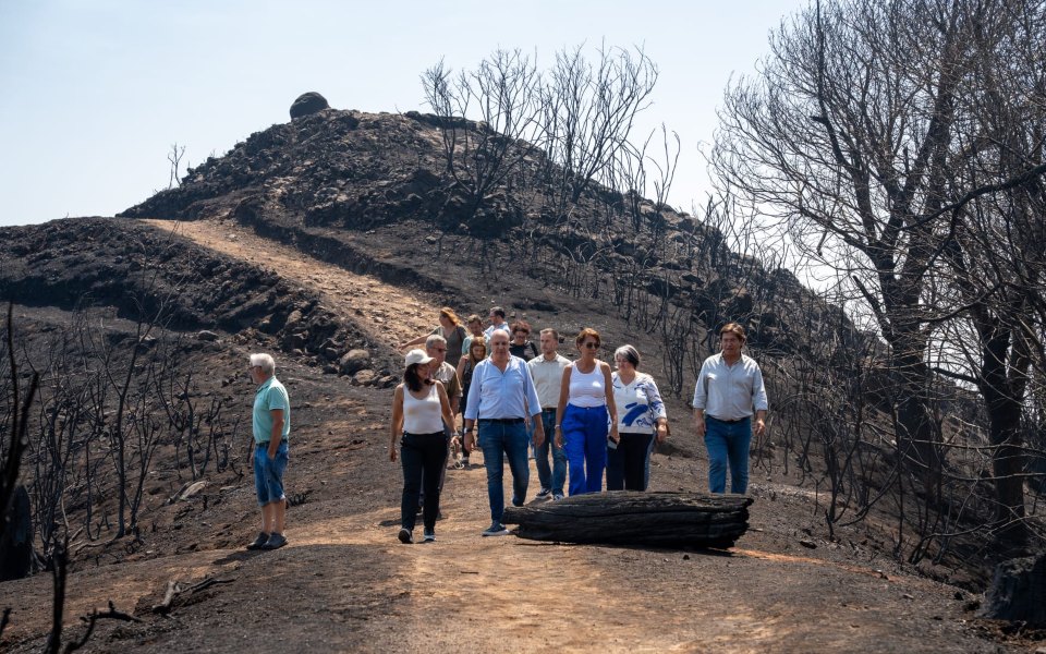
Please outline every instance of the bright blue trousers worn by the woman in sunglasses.
M599 493L607 465L610 414L601 407L567 404L563 412L563 449L570 465L570 494Z

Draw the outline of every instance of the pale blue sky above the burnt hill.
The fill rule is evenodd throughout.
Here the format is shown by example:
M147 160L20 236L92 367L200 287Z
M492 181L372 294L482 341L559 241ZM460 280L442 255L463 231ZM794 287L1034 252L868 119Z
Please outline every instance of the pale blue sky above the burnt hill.
M425 111L418 76L497 48L538 65L582 41L644 45L660 69L638 123L683 152L669 198L707 190L731 74L806 0L327 2L0 0L0 225L111 216L168 183L172 143L196 165L273 123L306 90L338 109Z

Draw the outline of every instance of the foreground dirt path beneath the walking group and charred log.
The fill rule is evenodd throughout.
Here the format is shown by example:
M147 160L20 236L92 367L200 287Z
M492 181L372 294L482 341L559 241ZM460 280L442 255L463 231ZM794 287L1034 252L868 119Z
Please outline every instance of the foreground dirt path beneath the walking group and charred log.
M536 481L533 462L531 474ZM112 567L78 573L69 615L102 597L146 607L167 579L218 576L233 582L148 627L96 637L93 647L108 651L117 640L148 652L996 651L966 632L958 603L942 606L938 584L767 552L758 532L731 554L484 538L485 486L478 453L469 470L448 471L436 543L401 545L389 501L361 512L307 504L291 511L291 544L275 553L216 549L121 566L119 577ZM250 488L238 493L250 501ZM16 611L46 597L41 581L15 582L36 590L15 600Z

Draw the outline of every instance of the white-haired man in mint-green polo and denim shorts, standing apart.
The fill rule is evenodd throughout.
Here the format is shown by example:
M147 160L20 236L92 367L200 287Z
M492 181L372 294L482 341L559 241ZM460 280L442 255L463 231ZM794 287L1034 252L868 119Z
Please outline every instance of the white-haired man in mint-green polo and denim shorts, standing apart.
M268 354L251 355L251 379L258 385L254 392L254 487L262 507L262 531L247 549L278 549L287 545L283 523L287 519L287 495L283 471L287 470L288 440L291 435L291 401L287 389L276 378L276 362Z

